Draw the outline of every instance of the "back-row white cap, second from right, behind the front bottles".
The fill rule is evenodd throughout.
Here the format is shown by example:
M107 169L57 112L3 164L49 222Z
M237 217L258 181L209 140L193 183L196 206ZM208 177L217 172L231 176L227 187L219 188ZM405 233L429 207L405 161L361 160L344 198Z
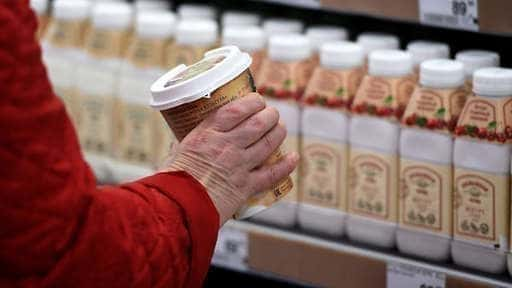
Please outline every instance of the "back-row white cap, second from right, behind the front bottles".
M425 60L449 58L450 46L441 42L418 40L407 45L407 52L411 53L414 66L419 66Z

